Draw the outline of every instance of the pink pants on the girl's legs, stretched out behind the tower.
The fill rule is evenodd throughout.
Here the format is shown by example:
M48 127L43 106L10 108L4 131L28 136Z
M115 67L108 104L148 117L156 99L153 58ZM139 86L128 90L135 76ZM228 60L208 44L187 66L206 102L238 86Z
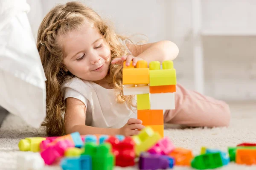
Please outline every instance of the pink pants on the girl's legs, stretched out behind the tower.
M189 91L176 85L175 110L166 110L164 122L191 127L228 126L230 108L227 103Z

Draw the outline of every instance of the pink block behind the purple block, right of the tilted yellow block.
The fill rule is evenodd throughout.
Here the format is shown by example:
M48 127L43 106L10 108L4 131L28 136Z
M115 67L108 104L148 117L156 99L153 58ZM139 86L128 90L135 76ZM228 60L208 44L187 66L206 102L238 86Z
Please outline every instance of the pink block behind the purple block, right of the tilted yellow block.
M153 154L168 155L168 153L174 150L175 146L170 139L167 137L161 139L153 147L151 147L148 152Z

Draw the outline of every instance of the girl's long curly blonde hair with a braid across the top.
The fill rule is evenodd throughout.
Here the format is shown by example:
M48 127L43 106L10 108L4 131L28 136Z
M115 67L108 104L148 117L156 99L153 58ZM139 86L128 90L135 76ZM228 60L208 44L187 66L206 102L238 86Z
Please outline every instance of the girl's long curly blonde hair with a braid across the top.
M42 126L46 126L48 136L61 136L65 134L62 115L65 111L64 95L61 85L70 72L64 71L63 53L56 42L59 35L77 30L88 20L99 29L102 36L110 46L111 60L127 54L127 50L119 42L128 37L116 34L114 28L109 26L95 11L79 2L68 2L65 5L57 5L44 17L37 38L37 48L40 54L44 72L47 77L47 116ZM111 65L107 77L109 85L117 89L116 100L119 103L127 103L131 109L134 96L123 96L122 92L122 66Z

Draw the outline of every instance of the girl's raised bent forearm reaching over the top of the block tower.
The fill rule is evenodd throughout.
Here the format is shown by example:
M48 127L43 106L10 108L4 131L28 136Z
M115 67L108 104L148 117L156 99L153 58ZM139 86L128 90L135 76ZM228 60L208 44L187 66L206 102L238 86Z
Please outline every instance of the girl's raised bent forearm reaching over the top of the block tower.
M151 61L174 60L179 54L179 48L171 41L159 41L153 43L149 48L139 54L137 57L145 59L148 63Z

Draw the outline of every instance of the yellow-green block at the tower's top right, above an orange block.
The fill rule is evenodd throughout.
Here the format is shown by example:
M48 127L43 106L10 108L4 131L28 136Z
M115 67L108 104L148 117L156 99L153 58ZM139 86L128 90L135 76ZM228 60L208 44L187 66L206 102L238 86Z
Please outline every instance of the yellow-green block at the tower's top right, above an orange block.
M173 62L166 60L162 64L163 69L160 69L160 62L149 63L150 86L176 85L176 70L173 68Z

